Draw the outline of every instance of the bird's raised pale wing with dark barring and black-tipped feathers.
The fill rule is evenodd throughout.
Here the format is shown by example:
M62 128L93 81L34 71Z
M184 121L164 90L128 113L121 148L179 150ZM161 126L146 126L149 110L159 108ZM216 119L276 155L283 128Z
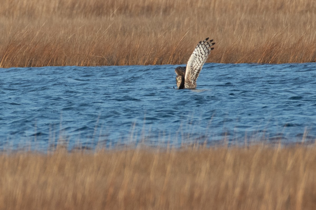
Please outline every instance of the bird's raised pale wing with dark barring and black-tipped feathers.
M210 41L208 40L209 37L203 42L200 41L188 60L185 70L185 88L197 87L197 77L200 74L206 59L209 57L210 51L214 49L211 47L215 44L211 43L213 42L213 39Z

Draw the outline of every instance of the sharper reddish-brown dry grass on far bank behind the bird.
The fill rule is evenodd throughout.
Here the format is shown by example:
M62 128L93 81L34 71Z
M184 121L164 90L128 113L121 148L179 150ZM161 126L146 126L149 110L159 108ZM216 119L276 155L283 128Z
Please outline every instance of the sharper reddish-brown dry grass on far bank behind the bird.
M3 0L0 67L316 61L314 0Z

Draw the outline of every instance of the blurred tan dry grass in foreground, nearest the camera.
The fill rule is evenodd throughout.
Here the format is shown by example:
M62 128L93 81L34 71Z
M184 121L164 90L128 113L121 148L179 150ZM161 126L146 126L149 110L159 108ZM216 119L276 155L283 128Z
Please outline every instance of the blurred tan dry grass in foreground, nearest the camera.
M316 147L0 154L0 209L316 209Z

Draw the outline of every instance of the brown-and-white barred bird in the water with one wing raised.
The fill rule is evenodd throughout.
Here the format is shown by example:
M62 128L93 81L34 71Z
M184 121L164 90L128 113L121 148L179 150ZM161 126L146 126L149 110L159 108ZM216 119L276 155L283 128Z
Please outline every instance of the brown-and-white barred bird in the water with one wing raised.
M194 89L197 87L197 77L201 72L201 69L208 58L211 50L214 48L211 47L215 44L213 39L209 40L209 37L200 41L193 53L191 54L186 67L178 66L175 68L176 83L178 89L190 88ZM212 43L213 42L213 43Z

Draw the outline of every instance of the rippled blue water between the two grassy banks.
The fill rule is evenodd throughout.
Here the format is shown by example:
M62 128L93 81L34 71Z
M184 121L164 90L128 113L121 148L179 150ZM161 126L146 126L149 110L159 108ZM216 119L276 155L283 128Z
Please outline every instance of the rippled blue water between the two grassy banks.
M176 66L2 68L0 148L316 138L316 63L207 63L195 90Z

